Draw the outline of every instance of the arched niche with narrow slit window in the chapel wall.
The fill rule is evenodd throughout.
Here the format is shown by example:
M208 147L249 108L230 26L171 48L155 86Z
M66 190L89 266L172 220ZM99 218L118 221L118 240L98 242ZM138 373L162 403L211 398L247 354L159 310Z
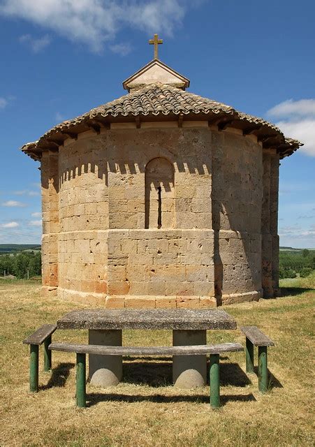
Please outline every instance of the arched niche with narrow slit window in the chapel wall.
M145 228L174 228L174 168L161 157L145 167Z

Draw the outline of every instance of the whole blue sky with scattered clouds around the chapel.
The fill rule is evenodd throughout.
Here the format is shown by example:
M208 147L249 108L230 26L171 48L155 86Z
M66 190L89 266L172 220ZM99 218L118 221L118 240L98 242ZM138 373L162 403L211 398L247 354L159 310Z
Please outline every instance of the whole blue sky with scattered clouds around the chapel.
M279 235L315 248L314 17L313 0L0 0L0 244L41 241L39 163L19 148L125 94L158 33L189 91L305 143L281 161Z

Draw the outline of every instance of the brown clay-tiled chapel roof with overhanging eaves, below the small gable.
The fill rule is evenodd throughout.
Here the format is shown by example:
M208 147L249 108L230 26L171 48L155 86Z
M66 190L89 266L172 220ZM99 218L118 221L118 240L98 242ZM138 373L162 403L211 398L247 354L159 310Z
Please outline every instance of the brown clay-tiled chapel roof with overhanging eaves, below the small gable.
M100 105L74 119L64 121L44 133L36 142L27 143L22 151L34 160L41 159L45 149L63 145L66 138L78 138L78 133L101 127L110 127L112 122L161 120L207 120L219 130L228 126L241 129L244 135L254 134L263 142L263 147L276 147L280 158L291 155L302 144L298 140L285 138L284 134L262 118L237 112L230 105L203 98L170 85L146 85L134 89L130 94Z

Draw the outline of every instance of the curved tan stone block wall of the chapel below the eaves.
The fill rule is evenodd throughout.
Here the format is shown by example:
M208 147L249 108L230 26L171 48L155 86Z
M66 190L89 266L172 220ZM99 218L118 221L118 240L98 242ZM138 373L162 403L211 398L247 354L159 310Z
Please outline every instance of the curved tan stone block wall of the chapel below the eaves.
M43 157L43 281L62 298L209 307L261 296L261 144L204 122L169 124L80 134L59 148L57 167L56 154ZM173 176L158 179L164 162L154 160Z

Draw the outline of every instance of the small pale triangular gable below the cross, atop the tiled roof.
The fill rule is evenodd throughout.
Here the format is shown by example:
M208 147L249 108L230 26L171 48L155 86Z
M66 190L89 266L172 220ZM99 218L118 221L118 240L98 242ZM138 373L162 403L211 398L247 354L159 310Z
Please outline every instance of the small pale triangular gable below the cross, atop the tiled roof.
M189 87L189 79L173 70L159 59L153 59L149 64L140 68L134 75L126 79L122 85L125 90L140 89L147 85L170 85L182 90Z

